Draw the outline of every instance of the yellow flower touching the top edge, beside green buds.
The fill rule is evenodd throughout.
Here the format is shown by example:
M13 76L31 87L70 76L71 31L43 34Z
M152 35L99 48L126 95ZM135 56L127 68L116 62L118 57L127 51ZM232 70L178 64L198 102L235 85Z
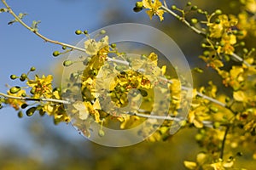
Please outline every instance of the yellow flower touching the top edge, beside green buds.
M158 15L160 20L164 20L163 14L165 11L160 9L162 3L159 0L154 0L154 3L152 3L152 0L143 0L143 6L149 9L146 11L146 13L148 14L150 20L152 20L153 15Z

